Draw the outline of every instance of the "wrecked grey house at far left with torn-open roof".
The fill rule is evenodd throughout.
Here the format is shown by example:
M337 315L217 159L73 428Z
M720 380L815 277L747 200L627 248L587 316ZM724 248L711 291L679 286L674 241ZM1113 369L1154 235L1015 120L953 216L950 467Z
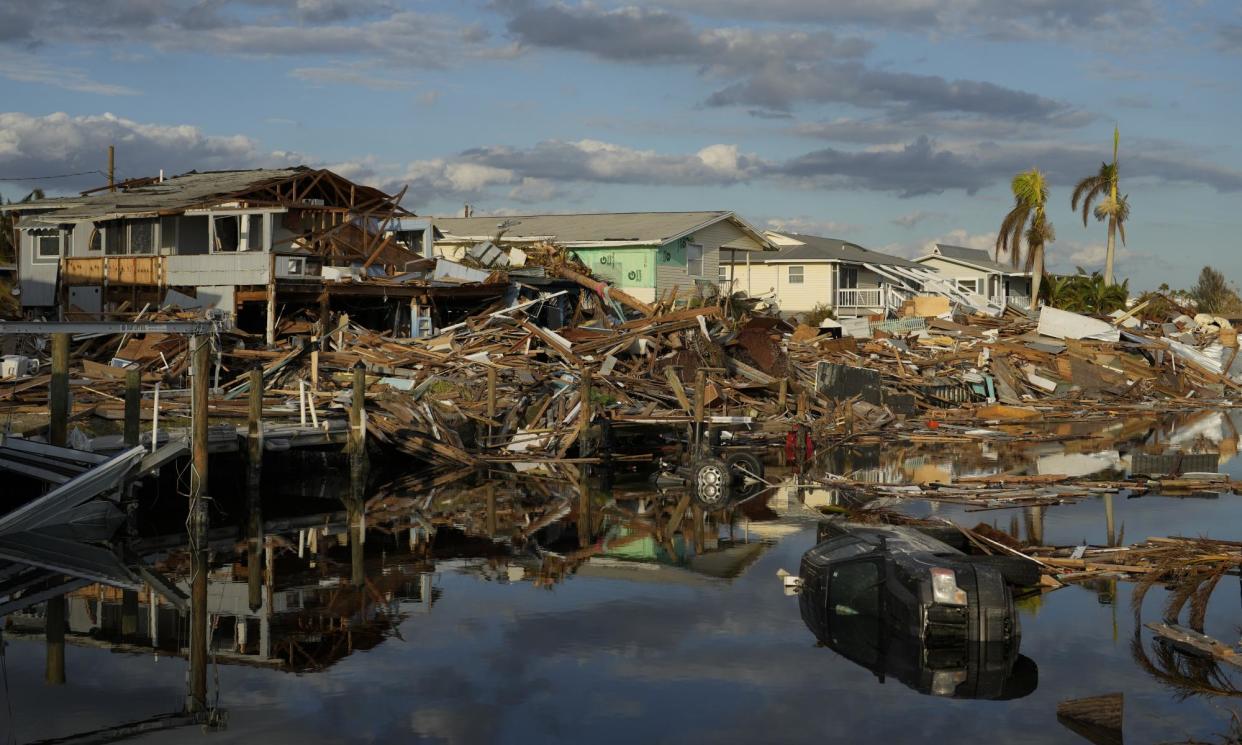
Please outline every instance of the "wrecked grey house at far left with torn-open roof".
M191 171L0 209L17 214L27 315L214 309L271 340L301 308L401 329L446 291L468 304L503 292L426 282L421 248L400 241L414 217L400 195L325 169Z

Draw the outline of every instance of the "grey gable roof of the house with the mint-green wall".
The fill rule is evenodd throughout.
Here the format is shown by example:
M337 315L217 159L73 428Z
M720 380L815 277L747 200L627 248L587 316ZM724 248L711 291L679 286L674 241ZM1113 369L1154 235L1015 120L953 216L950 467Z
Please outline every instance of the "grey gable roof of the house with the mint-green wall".
M584 212L576 215L512 215L496 217L437 217L436 228L447 240L494 240L499 225L507 240L554 240L566 245L655 245L688 236L722 220L734 222L761 247L771 243L730 211L703 212Z

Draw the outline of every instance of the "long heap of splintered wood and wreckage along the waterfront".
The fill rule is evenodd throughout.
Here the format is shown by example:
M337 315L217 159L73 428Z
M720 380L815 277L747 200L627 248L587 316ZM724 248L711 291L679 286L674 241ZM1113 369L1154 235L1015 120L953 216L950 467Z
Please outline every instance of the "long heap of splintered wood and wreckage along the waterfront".
M607 430L630 425L671 433L730 425L773 445L797 425L828 445L862 435L969 438L996 435L980 425L1194 407L1242 389L1237 334L1222 318L1139 320L1143 305L1108 319L1048 307L1037 317L1011 308L999 318L924 318L944 304L917 298L909 318L866 324L867 338L840 336L751 315L732 298L686 302L673 291L646 303L553 245L527 247L520 261L497 253L488 245L461 262L421 261L424 273L445 262L508 286L430 335L366 328L327 305L282 319L274 345L219 333L211 415L245 416L248 371L258 365L265 420L307 426L309 415L310 427L330 428L360 365L371 438L431 464L471 467L611 454ZM186 349L184 338L161 334L79 336L75 413L120 418L129 366L145 387L163 386L161 407L188 410L178 395ZM42 349L27 354L37 370L0 386L10 416L46 406ZM144 418L153 405L144 402Z

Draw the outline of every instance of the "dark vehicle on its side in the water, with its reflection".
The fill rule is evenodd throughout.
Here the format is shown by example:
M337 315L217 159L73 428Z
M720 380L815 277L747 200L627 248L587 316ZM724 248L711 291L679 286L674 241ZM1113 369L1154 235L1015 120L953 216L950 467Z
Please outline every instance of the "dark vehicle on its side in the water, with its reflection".
M822 644L920 693L987 699L1031 693L1038 672L1018 654L1011 585L1037 582L1037 567L1016 558L971 556L935 533L821 525L821 540L801 562L804 622Z

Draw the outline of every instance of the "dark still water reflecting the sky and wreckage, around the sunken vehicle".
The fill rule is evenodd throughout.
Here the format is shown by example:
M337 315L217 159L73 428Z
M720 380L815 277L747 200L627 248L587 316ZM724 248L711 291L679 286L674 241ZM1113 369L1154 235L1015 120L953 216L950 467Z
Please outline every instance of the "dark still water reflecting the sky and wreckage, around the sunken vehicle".
M1235 416L1088 422L1076 426L1095 436L1064 445L859 448L828 453L823 466L889 483L925 481L933 469L1120 474L1140 449L1176 447L1220 453L1221 469L1236 474ZM272 474L265 487L270 571L258 611L247 607L243 534L214 543L209 683L225 726L137 741L1086 743L1058 723L1058 702L1112 693L1124 697L1128 743L1238 738L1231 728L1242 675L1169 652L1141 623L1136 631L1129 582L1022 600L1021 654L1037 677L1007 698L987 685L964 698L968 687L912 674L918 659L864 667L848 649L818 646L777 571L796 574L815 541L814 507L837 498L828 490L774 489L715 517L691 509L671 531L678 494L587 487L584 495L575 484L512 477L378 487L368 507L366 584L355 589L343 508L323 498L337 485L307 481ZM1236 540L1240 500L1117 495L1114 540ZM1048 544L1103 545L1109 533L1103 498L987 512L902 508L1042 534ZM238 514L243 507L222 499L212 520ZM149 555L178 576L175 546ZM1240 590L1237 576L1220 584L1208 634L1237 638ZM1164 597L1160 587L1148 594L1143 622L1159 620ZM173 652L185 627L161 607L153 649L145 594L139 600L137 633L120 644L109 641L119 591L93 586L71 596L65 685L43 683L41 632L21 631L39 610L9 618L0 679L9 739L0 743L180 710L186 662Z

